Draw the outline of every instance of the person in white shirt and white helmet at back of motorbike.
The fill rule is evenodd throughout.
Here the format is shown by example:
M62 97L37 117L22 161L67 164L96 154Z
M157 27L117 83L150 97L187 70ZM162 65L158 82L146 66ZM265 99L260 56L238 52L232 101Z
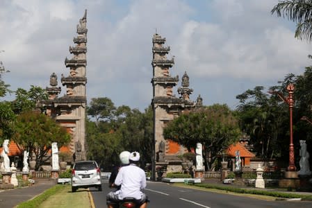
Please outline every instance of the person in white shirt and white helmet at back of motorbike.
M113 208L116 202L120 202L123 198L136 198L136 203L140 208L147 207L149 201L142 189L146 187L145 171L137 166L140 159L138 152L133 152L129 156L129 166L123 166L117 174L113 185L122 186L120 190L110 191L106 196L106 204L108 208Z

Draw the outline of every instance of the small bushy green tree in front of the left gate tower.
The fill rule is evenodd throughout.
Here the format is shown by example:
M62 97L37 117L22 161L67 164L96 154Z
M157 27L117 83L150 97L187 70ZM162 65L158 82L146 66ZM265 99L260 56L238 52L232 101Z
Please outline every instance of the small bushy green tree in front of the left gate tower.
M21 150L29 152L31 159L35 155L36 170L49 159L47 155L53 142L57 142L59 147L65 146L71 138L54 119L35 111L19 114L15 128L13 140Z

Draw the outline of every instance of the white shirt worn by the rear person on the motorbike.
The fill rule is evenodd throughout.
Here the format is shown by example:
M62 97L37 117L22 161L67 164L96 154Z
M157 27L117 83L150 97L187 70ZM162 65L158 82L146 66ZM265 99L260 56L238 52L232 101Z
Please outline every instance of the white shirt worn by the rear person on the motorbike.
M122 185L118 198L125 197L142 198L141 189L146 187L145 172L134 164L120 168L115 179L117 186Z

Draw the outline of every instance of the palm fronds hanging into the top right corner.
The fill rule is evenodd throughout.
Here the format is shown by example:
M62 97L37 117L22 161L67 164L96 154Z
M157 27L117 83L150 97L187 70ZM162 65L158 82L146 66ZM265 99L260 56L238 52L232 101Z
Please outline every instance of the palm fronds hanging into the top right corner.
M271 10L278 17L287 17L297 24L295 37L299 40L312 40L312 1L311 0L288 0L279 1Z

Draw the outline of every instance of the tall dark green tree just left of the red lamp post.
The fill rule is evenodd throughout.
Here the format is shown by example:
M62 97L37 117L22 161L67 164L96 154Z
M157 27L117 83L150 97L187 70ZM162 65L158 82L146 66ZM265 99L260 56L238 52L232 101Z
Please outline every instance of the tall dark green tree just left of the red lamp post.
M251 137L254 151L263 159L272 159L281 154L278 138L284 128L287 109L279 98L269 96L263 90L264 87L257 86L236 96L240 100L237 112L240 128Z

